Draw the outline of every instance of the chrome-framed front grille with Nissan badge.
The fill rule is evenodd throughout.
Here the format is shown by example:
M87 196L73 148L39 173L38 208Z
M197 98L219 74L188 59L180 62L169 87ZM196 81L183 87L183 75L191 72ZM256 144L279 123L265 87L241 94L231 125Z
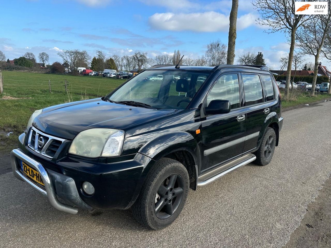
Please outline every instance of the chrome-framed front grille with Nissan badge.
M64 141L64 139L44 134L32 127L28 134L27 146L41 155L53 158Z

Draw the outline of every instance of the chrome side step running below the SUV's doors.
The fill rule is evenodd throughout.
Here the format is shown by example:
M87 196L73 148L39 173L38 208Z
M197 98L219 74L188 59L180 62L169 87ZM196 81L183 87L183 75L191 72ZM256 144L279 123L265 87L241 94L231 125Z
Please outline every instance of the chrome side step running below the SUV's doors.
M234 171L243 165L253 162L255 159L256 159L256 156L254 154L250 153L250 154L247 154L245 156L242 156L242 157L230 162L229 164L223 165L204 175L201 175L200 177L198 177L198 187L206 186L206 185L214 182L215 180L225 176L229 172ZM230 167L230 168L224 170L224 167L227 167L227 168Z

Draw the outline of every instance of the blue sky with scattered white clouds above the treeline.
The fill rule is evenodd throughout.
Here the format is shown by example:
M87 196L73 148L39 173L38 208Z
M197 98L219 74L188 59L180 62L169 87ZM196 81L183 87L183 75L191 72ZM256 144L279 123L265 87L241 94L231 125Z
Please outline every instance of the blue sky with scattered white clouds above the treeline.
M197 59L207 44L228 43L231 0L11 0L2 1L0 50L10 60L32 52L49 54L62 62L62 49L96 50L107 56L133 54L148 57L180 50ZM7 10L7 11L4 11ZM15 11L14 11L15 10ZM239 0L236 58L262 52L266 65L279 68L289 52L284 33L268 34L256 24L259 13L250 0ZM184 57L184 58L185 58ZM307 62L313 62L307 56ZM321 60L331 67L329 61ZM235 60L236 62L236 60Z

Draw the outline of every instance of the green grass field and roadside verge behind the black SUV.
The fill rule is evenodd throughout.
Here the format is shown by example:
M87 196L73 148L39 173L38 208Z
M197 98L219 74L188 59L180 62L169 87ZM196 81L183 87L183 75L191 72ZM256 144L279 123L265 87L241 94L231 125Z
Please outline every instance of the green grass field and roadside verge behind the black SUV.
M17 137L23 132L28 119L35 110L60 103L102 97L126 80L101 76L71 76L15 71L3 71L2 76L4 82L3 93L0 94L0 152L8 152L17 146ZM65 93L65 79L68 84L67 93ZM49 92L48 80L51 81L51 93ZM283 95L283 92L281 93ZM308 93L300 94L295 91L291 98L292 101L282 101L283 108L300 103L330 99L330 96L326 93L318 93L315 97L310 97ZM5 136L9 132L13 132L13 134L9 137Z

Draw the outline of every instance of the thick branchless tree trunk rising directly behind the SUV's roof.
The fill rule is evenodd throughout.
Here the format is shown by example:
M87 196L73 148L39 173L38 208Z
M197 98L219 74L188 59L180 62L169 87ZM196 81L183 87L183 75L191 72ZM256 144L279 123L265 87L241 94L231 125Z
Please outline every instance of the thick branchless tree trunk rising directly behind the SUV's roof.
M235 56L234 49L236 46L236 38L237 38L237 14L238 14L238 0L232 0L226 64L233 64L234 62L234 56Z

